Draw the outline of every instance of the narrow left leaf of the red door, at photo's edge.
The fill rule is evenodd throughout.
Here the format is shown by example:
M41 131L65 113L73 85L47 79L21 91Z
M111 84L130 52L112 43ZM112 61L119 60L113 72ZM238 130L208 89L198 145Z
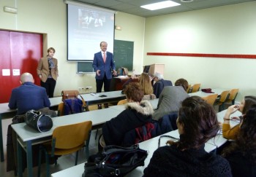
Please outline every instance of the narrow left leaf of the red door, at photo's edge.
M10 32L0 31L0 103L8 102L12 92L12 74L3 76L3 69L11 69Z

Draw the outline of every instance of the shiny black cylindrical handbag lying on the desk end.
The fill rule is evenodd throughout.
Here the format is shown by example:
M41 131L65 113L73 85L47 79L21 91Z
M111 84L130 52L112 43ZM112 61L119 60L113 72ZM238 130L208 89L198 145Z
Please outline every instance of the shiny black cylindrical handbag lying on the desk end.
M39 132L47 132L53 127L53 120L49 115L33 109L26 112L25 122L26 125Z

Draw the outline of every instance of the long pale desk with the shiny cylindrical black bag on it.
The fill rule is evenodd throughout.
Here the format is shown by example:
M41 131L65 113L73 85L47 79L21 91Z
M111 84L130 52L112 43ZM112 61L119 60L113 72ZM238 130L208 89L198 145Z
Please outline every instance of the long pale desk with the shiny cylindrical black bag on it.
M32 145L34 143L42 143L49 141L53 134L53 129L61 125L70 125L78 122L91 120L93 127L104 124L109 119L116 117L120 111L113 109L100 109L95 111L87 111L78 114L70 114L63 117L53 118L53 128L45 133L39 133L36 130L28 127L26 123L12 125L13 130L17 133L17 152L18 152L18 176L22 176L20 165L22 165L21 148L25 149L27 157L28 176L33 176L32 171Z

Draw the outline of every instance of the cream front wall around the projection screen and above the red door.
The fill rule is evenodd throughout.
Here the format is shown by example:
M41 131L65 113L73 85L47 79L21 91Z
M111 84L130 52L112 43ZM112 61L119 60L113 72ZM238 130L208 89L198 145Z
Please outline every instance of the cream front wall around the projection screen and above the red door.
M18 14L4 12L4 6L18 8ZM61 90L77 90L78 87L92 86L96 90L95 74L76 74L76 63L67 62L67 8L63 0L1 0L0 9L0 29L45 34L44 54L47 55L48 47L56 49L59 79L54 95L61 95ZM136 70L143 66L144 23L144 17L121 12L116 14L116 24L122 27L121 31L115 31L116 39L135 42Z

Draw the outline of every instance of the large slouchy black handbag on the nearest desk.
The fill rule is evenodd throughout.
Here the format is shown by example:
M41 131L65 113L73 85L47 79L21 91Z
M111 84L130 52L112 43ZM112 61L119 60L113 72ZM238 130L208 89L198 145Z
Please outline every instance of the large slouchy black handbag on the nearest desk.
M143 166L147 156L148 152L140 149L138 144L130 147L105 146L102 154L89 157L82 176L125 176L138 166Z

